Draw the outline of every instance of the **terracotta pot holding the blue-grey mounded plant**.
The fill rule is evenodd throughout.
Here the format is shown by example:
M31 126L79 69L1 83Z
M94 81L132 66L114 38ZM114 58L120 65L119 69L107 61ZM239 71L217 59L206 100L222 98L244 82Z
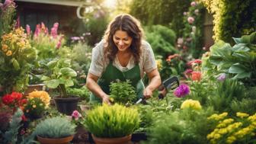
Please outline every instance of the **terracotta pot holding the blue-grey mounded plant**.
M67 136L63 138L50 139L50 138L43 138L43 137L37 136L37 140L41 144L69 144L69 142L72 141L73 137L74 136L72 135L72 136Z

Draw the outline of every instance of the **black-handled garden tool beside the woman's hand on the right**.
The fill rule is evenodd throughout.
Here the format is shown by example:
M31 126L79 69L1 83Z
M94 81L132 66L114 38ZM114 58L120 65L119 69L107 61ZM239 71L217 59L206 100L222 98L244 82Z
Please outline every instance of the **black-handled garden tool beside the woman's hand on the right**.
M172 76L171 78L167 78L164 82L162 82L162 85L159 86L158 91L158 98L162 99L165 98L165 95L168 92L168 89L173 90L174 88L177 88L180 85L180 82L178 80L177 76ZM139 98L138 101L136 101L136 104L145 104L146 103L146 98Z

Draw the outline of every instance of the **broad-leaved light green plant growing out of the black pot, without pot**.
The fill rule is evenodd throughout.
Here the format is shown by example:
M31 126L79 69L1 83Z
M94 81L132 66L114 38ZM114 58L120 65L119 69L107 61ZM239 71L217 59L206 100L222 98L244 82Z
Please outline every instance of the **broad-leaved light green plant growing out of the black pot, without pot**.
M76 72L70 68L70 59L53 59L47 63L49 73L42 80L49 88L58 88L60 97L67 98L66 87L74 85L72 80Z

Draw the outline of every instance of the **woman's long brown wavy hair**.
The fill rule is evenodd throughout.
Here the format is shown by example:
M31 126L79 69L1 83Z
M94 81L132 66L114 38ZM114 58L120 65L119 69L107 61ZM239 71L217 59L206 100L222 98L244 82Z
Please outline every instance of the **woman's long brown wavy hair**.
M135 62L138 63L139 56L141 55L141 45L144 34L139 21L136 18L133 18L130 14L117 15L117 17L108 24L104 34L104 41L106 42L104 47L105 55L108 59L113 61L117 54L118 49L113 40L117 30L126 31L126 33L133 38L130 50L135 58Z

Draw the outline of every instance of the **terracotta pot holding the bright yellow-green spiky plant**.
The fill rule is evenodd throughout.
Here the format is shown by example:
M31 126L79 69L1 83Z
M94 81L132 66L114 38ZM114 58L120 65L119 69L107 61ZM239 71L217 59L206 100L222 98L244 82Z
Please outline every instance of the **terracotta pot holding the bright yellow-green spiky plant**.
M130 144L132 135L123 136L119 138L98 138L92 134L92 139L96 144Z

